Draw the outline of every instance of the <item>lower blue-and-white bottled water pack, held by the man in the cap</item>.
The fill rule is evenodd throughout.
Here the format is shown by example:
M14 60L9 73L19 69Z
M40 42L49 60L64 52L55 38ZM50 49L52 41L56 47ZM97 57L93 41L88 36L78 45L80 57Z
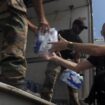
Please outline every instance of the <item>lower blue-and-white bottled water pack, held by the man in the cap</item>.
M60 76L61 81L74 89L80 89L83 83L83 76L75 71L66 69Z

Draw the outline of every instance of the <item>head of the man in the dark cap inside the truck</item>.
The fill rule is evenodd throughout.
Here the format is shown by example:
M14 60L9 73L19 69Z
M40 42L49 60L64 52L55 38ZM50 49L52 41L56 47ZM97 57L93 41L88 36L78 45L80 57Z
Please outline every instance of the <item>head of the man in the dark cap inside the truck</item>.
M87 26L84 25L83 19L78 18L73 21L72 30L76 34L80 34L84 29L87 29Z

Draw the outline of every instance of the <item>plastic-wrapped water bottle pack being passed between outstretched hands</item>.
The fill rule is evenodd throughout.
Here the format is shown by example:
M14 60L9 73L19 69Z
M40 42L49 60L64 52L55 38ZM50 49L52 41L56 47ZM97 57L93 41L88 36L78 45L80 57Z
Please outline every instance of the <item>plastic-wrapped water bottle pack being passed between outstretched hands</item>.
M55 28L50 28L45 33L38 31L34 44L34 52L38 55L47 54L50 52L52 44L49 42L58 41L58 32Z

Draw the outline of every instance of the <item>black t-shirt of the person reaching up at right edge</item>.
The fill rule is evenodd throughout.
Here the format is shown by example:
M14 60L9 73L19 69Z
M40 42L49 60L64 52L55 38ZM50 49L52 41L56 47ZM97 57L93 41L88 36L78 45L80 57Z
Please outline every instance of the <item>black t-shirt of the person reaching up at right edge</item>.
M87 60L96 67L93 86L96 91L105 91L105 56L90 56Z

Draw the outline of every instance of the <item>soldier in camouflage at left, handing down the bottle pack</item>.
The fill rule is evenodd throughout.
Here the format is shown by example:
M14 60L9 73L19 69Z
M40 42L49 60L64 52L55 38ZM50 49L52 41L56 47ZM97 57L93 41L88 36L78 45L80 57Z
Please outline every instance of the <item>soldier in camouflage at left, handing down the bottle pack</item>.
M45 18L43 0L32 0L39 17L40 30L49 24ZM23 0L0 0L0 29L2 34L0 81L22 88L26 75L25 58L28 21Z

